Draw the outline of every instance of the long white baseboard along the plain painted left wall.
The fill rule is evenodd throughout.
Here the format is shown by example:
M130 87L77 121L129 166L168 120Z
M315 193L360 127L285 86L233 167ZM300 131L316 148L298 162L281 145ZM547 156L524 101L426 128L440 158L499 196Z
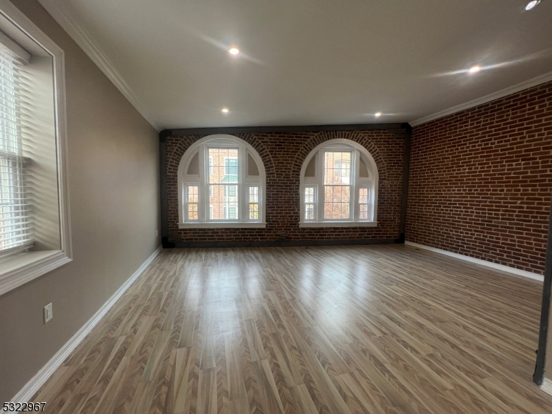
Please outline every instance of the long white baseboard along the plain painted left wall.
M96 326L96 324L99 322L101 317L103 315L106 315L106 313L109 311L111 306L117 302L117 299L125 293L125 291L130 287L132 282L134 282L139 275L141 275L144 270L150 265L151 262L153 262L153 259L161 253L161 250L163 249L163 246L159 246L153 254L148 257L146 262L141 264L141 266L135 271L135 273L132 273L132 276L130 276L126 282L124 282L123 286L121 286L119 289L117 289L117 292L115 292L112 297L108 299L108 301L101 306L101 308L98 309L98 311L90 318L88 319L88 322L82 326L82 328L75 333L71 337L71 339L68 340L68 342L61 347L59 351L46 363L45 366L40 368L40 371L34 375L30 379L30 381L21 388L21 391L17 393L11 401L30 401L34 393L39 391L39 388L48 380L50 375L54 373L54 371L59 368L59 366L65 361L65 359L72 353L72 351L77 348L77 345L80 344L80 342L92 331L92 328Z

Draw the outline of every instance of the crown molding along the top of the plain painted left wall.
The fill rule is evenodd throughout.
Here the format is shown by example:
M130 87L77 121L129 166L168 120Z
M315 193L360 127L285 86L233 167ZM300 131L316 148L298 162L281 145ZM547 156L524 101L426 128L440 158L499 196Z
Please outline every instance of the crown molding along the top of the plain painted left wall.
M59 23L59 26L69 34L86 55L92 59L101 72L103 72L117 89L119 89L140 115L159 132L161 130L159 125L147 114L144 105L139 101L135 92L128 86L128 83L126 83L119 71L115 69L115 66L107 57L106 53L103 52L97 42L90 37L90 34L86 33L79 23L70 16L66 8L61 6L61 2L57 0L39 0L39 3L41 3L43 8L52 15L55 21Z

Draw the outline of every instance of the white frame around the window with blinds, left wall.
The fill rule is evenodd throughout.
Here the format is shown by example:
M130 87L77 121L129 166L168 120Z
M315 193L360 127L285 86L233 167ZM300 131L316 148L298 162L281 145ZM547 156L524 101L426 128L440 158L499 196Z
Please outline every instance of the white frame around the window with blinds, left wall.
M32 279L48 273L72 260L70 210L67 172L67 126L65 100L65 63L63 50L44 34L28 17L10 1L0 0L0 14L21 31L21 42L31 39L43 52L52 57L55 130L55 155L57 175L57 215L59 217L59 250L23 251L0 258L0 295ZM12 29L12 28L11 28ZM0 27L2 30L2 27ZM13 31L13 30L12 30ZM11 34L10 34L11 36ZM26 36L26 38L25 38ZM19 42L19 33L13 40ZM31 61L32 64L32 57Z

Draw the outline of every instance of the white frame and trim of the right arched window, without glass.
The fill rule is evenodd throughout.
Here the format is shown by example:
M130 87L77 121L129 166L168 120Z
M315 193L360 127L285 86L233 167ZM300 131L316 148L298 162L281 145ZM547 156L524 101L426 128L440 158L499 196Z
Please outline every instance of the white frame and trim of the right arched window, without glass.
M351 151L351 205L348 219L324 219L324 152ZM315 157L315 176L305 177L306 169ZM360 160L368 169L368 177L359 177ZM299 227L376 227L377 226L377 193L378 172L375 161L362 145L350 139L330 139L314 148L306 157L301 168L299 199L301 200ZM306 219L305 188L313 188L315 200L315 217ZM371 215L368 219L359 217L359 190L369 188Z

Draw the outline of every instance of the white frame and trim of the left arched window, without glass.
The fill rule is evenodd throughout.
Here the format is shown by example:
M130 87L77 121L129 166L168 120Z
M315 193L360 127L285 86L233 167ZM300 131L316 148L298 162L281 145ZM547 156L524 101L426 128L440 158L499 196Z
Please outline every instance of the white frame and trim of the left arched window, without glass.
M209 148L235 148L238 150L238 214L234 220L214 220L209 216ZM195 155L198 155L199 174L188 175L188 167ZM258 175L248 175L248 155L253 158L258 169ZM199 139L184 152L177 172L178 186L178 218L179 228L264 228L266 227L266 172L264 164L253 146L233 135L209 135ZM188 186L197 186L198 219L187 217L186 196ZM248 192L250 186L259 188L259 218L250 219L248 215Z

